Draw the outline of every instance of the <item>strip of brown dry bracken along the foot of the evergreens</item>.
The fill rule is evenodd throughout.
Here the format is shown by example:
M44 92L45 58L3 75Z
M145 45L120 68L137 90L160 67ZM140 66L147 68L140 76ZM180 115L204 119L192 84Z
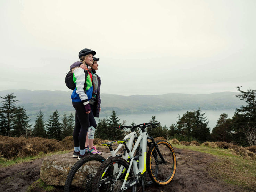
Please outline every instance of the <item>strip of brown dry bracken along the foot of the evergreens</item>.
M166 140L164 137L156 137L157 140ZM101 145L101 143L109 142L109 140L94 139L94 145ZM181 141L177 139L169 140L171 144L180 144L185 146L199 146L197 141ZM204 142L202 146L229 149L233 154L242 156L245 159L256 160L256 146L240 147L226 142ZM36 156L40 152L49 153L63 150L71 150L74 147L73 137L68 136L62 141L56 139L44 139L41 137L32 137L26 139L25 137L7 137L0 135L0 159L13 160L17 157L24 158L28 156Z

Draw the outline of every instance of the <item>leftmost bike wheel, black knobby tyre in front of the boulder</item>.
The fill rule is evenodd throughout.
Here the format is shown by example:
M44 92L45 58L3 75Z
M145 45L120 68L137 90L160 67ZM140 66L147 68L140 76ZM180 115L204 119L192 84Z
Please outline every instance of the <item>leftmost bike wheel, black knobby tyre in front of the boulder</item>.
M68 173L64 192L91 192L92 178L105 160L99 155L89 155L77 161Z

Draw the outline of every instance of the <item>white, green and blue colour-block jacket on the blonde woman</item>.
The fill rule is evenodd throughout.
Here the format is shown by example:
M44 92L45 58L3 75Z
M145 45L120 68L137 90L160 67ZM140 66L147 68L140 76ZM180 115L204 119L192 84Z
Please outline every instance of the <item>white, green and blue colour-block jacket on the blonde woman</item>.
M75 62L70 66L72 69L73 65L80 65L81 62ZM73 102L82 101L84 105L88 104L92 98L92 74L89 70L83 70L82 68L78 67L73 71L73 81L76 85L76 88L73 90L71 94L71 99Z

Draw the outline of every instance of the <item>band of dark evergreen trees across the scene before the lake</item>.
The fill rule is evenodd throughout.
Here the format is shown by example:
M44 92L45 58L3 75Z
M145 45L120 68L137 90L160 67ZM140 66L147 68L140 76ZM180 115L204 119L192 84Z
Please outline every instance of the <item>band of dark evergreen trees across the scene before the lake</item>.
M225 141L241 146L256 145L256 90L241 90L236 95L245 102L237 108L234 116L220 114L216 126L210 132L205 113L198 107L197 110L187 111L179 115L177 122L170 127L161 125L148 128L148 133L153 137L165 139L176 138L179 141ZM43 137L48 139L63 140L73 134L75 118L72 113L64 113L61 117L58 110L52 112L49 119L44 119L44 112L39 111L34 125L30 124L30 117L24 106L17 106L19 100L13 93L1 97L0 106L0 135L11 137ZM155 116L151 116L150 122L158 122ZM125 125L126 121L118 118L116 111L112 111L109 117L100 119L97 123L95 137L100 139L118 140L123 139L126 131L113 128ZM131 125L133 125L132 123Z

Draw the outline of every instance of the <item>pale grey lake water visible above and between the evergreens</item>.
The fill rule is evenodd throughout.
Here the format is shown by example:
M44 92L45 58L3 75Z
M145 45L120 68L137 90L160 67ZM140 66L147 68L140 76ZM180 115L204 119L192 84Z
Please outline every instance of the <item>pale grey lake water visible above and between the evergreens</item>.
M141 113L141 114L121 114L118 115L120 122L123 122L123 120L126 120L126 125L130 125L132 122L135 124L141 124L146 123L151 120L151 116L156 116L156 120L158 122L161 122L161 125L166 125L167 127L170 127L171 124L176 124L178 120L178 116L183 115L188 110L181 110L181 111L165 111L165 112L152 112L152 113ZM192 111L192 110L189 110ZM208 119L208 127L212 130L213 127L216 126L217 120L220 118L220 115L223 113L228 114L228 118L232 118L234 116L235 110L230 109L223 109L223 110L202 110L203 113L205 113L205 117ZM102 117L96 118L96 123L98 123L98 119L103 119L105 116L101 114ZM110 116L110 115L108 115Z

